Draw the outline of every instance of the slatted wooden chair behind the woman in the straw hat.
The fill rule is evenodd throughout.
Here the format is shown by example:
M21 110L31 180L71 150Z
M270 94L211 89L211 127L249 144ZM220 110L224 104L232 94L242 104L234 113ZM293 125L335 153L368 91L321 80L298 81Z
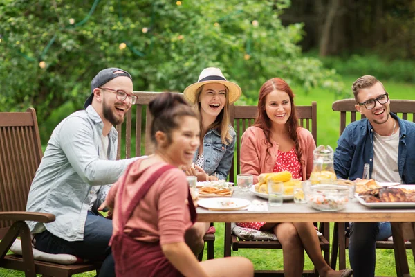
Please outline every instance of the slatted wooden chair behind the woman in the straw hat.
M124 153L125 158L130 158L142 156L144 154L148 155L154 150L154 145L151 143L150 139L152 118L149 109L147 109L147 105L149 105L151 100L158 96L159 92L135 91L134 94L138 96L136 104L127 112L124 124L116 126L119 137L117 159L121 158L122 152ZM178 94L183 96L183 93ZM142 148L144 148L144 151ZM211 225L213 226L213 224ZM213 259L214 234L206 234L203 240L208 243L208 259ZM203 251L201 251L198 258L199 260L202 260Z

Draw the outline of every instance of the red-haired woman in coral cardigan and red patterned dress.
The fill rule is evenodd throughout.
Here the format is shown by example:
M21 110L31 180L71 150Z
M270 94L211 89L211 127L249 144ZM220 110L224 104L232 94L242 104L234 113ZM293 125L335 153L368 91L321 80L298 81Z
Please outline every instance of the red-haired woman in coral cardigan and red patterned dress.
M306 180L313 167L315 142L311 132L299 127L294 94L281 78L266 81L259 90L255 124L241 139L241 172L252 174L290 171ZM334 271L324 260L312 222L248 222L238 226L272 231L282 244L284 276L302 276L306 250L320 276L351 276L353 271Z

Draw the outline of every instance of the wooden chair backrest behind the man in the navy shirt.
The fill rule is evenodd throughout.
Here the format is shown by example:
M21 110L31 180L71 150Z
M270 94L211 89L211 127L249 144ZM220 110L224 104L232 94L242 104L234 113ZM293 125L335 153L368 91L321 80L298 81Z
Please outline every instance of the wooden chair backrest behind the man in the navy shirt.
M397 114L402 119L415 122L415 100L391 99L390 101L391 112ZM360 113L356 111L355 105L356 100L354 100L354 98L337 100L331 105L333 111L340 111L340 134L342 134L348 123L365 118L365 116L360 115Z

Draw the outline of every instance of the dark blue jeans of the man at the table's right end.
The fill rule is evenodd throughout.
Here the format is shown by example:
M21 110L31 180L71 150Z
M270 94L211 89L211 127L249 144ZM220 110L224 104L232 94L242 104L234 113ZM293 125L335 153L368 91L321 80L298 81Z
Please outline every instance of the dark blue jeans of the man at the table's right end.
M392 235L390 222L351 222L349 260L353 277L373 277L376 266L376 240Z

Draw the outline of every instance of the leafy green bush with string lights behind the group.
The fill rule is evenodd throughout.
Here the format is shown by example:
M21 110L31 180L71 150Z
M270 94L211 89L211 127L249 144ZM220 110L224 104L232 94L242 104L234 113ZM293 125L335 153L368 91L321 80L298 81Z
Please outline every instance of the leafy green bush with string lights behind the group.
M42 125L65 102L81 109L91 79L109 66L129 71L136 91L183 91L219 66L247 98L275 76L342 93L333 71L302 57L302 24L282 26L288 0L95 2L92 12L91 1L1 1L0 111L33 106Z

